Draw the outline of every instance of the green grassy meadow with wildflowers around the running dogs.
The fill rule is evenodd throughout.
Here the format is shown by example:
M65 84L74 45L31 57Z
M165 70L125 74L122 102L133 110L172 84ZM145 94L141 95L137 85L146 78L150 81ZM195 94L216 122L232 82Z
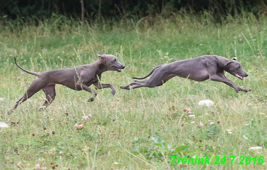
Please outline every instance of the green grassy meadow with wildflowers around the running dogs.
M63 21L71 20L0 26L0 122L10 126L0 129L0 169L267 169L267 17L247 14L221 24L205 15L112 26ZM126 65L120 73L102 74L102 83L116 87L115 96L97 90L95 101L87 102L91 93L56 85L56 98L44 112L37 111L45 99L40 91L7 114L37 78L23 74L14 57L23 68L44 72L92 63L95 53L116 55ZM237 58L249 76L226 76L252 91L180 77L151 89L119 88L157 65L206 54ZM215 105L198 106L204 99ZM88 114L90 120L82 120ZM253 146L263 149L249 150ZM211 164L226 156L228 165L172 165L171 156L208 156ZM236 156L233 165L230 156ZM257 156L256 164L235 165L240 156Z

